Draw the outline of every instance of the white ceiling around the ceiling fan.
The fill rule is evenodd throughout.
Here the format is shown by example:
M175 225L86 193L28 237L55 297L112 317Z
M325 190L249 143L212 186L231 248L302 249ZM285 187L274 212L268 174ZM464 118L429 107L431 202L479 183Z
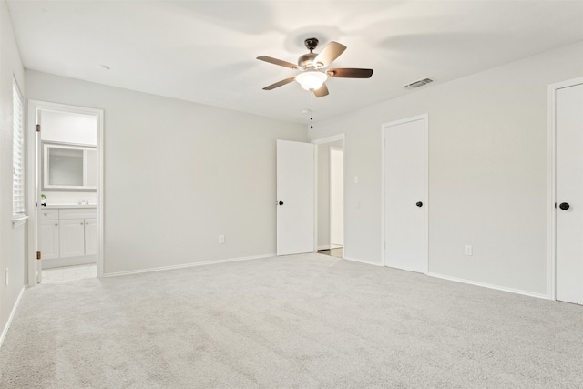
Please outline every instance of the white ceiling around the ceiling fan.
M306 123L583 40L581 1L25 1L8 0L26 68ZM370 67L370 79L333 78L312 98L297 83L261 88L295 71L315 36L348 46L332 67ZM319 50L316 49L316 52ZM109 70L101 67L105 65Z

